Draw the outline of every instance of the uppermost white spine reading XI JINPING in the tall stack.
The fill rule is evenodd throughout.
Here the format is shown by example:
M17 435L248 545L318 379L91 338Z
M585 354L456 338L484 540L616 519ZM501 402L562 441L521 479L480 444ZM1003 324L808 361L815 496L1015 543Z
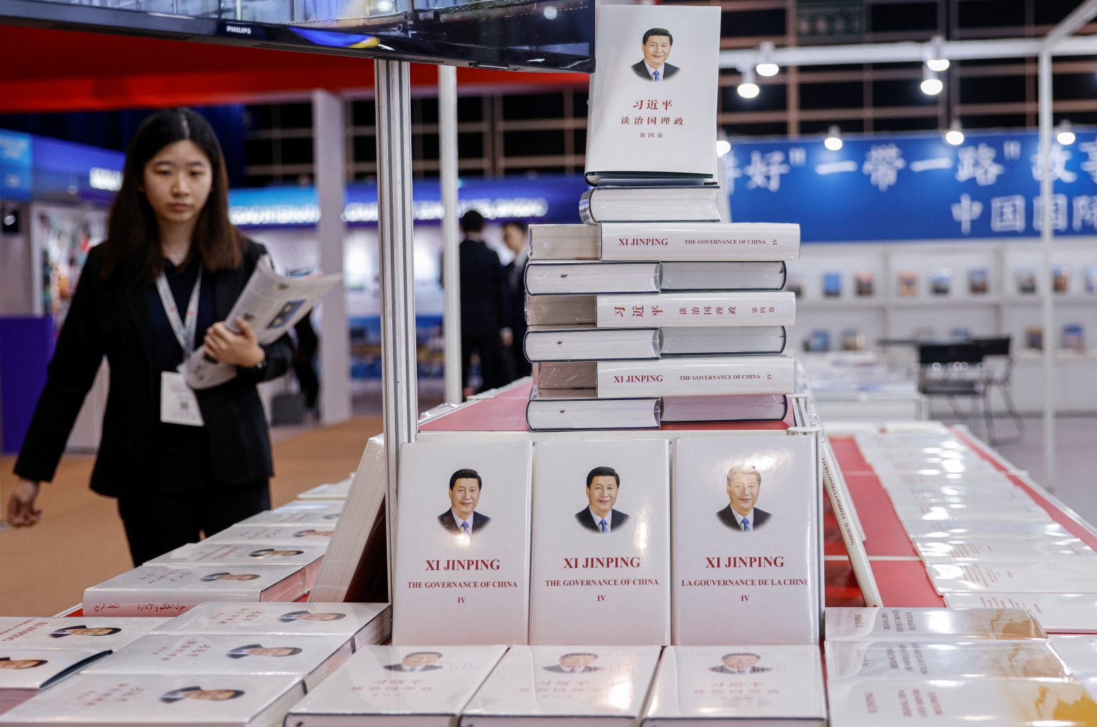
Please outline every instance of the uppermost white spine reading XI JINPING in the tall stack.
M800 258L800 225L603 223L601 259L760 261Z

